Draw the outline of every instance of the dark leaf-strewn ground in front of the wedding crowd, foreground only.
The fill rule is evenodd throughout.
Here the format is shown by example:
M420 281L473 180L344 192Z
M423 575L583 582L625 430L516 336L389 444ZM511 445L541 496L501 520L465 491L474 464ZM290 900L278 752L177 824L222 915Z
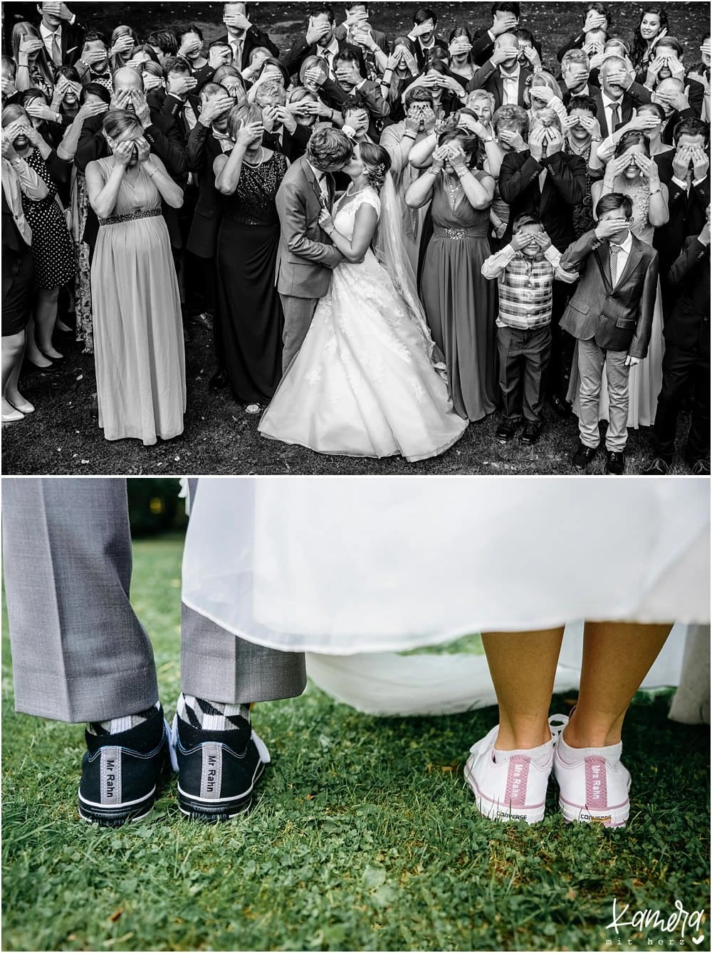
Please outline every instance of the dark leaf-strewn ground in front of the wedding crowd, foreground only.
M561 421L549 413L536 447L515 440L502 447L495 439L498 415L471 424L461 440L442 456L421 463L400 457L384 460L322 456L303 447L267 440L257 434L258 416L245 414L227 391L214 394L210 332L193 327L187 347L188 412L185 432L169 442L144 447L137 440L105 440L91 416L93 355L75 345L67 367L52 375L33 374L22 393L37 408L22 423L3 428L3 472L8 474L571 474L569 460L578 438L575 418ZM681 432L685 432L684 421ZM681 433L682 436L682 433ZM629 474L639 473L648 457L648 430L630 431ZM601 453L591 473L603 472ZM676 467L677 473L683 473Z

